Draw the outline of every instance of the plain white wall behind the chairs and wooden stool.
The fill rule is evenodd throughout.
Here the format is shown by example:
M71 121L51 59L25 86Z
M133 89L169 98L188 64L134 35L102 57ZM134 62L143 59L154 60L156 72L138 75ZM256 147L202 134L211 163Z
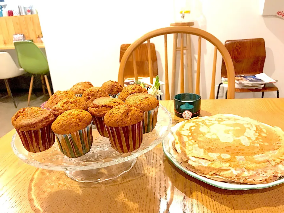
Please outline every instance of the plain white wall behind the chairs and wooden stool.
M132 43L150 30L167 27L175 20L174 0L99 2L82 0L80 7L74 7L68 2L70 1L57 1L56 10L61 12L56 14L51 13L50 8L45 4L38 3L54 91L68 89L79 81L88 80L93 85L100 86L106 80L117 80L120 45ZM260 0L196 0L192 1L192 5L191 11L196 18L195 27L212 33L222 43L228 39L259 37L265 39L267 58L264 72L280 80L277 86L280 89L280 97L283 97L284 86L281 80L284 67L284 20L277 17L262 17L260 7L263 7L263 2L261 3ZM82 12L76 12L76 9L81 9ZM159 76L164 80L163 37L152 39L151 42L155 43ZM172 36L168 36L170 81L171 44ZM192 36L192 52L196 54L196 50L197 37ZM214 47L209 42L202 41L201 96L203 99L209 98L213 50ZM194 72L196 72L195 54L193 54ZM220 83L221 60L221 55L218 54L216 84ZM176 88L175 91L178 89ZM236 98L260 96L260 93L236 94ZM265 97L276 97L276 93L267 93Z

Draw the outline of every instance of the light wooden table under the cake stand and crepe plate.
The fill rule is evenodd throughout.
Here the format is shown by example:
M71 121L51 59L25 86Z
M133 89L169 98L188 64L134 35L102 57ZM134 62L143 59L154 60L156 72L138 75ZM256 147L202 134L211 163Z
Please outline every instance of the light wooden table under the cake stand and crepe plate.
M161 101L173 114L173 102ZM201 115L251 117L284 129L284 99L203 100ZM180 121L173 115L174 123ZM15 130L0 139L0 212L284 212L284 184L230 191L178 170L162 145L138 157L115 180L79 183L63 172L43 170L18 159L10 146Z

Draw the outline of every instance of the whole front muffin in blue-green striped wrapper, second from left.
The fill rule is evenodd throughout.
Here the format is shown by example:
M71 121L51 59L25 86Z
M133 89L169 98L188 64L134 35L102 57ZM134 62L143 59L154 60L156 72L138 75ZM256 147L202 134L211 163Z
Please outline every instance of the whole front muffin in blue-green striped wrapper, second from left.
M77 158L88 153L93 143L92 116L83 109L63 112L51 125L60 151Z

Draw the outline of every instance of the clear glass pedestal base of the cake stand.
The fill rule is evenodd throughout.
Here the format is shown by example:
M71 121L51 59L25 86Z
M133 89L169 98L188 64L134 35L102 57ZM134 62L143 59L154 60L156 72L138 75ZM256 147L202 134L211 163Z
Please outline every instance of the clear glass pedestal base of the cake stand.
M64 173L67 177L78 182L98 183L117 178L125 172L128 172L134 166L136 161L137 158L133 158L112 166L92 170L64 171Z

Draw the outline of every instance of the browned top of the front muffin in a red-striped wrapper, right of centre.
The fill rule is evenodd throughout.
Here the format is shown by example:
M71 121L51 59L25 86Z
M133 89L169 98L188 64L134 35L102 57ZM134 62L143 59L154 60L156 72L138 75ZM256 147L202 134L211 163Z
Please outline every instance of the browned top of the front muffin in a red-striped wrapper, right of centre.
M114 106L104 116L104 123L110 127L124 127L143 120L144 114L134 106L122 104Z

